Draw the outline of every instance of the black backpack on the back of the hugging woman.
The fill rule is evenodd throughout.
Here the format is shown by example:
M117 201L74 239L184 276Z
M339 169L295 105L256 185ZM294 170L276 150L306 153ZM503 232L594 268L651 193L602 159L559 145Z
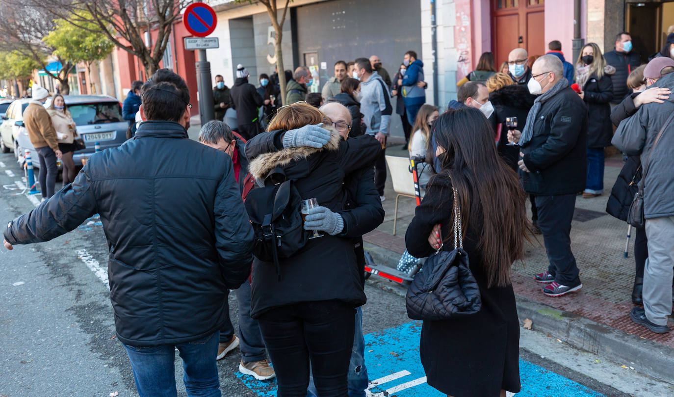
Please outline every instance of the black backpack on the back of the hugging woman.
M291 257L309 238L300 213L302 199L294 182L277 167L267 175L265 186L251 190L245 201L255 235L253 255L274 262L279 278L278 260Z

